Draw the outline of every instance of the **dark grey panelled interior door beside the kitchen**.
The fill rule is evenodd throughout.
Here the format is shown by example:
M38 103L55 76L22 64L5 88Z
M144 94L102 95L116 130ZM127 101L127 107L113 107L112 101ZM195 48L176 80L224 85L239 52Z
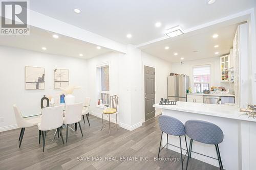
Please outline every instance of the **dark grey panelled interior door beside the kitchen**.
M155 68L144 67L145 120L155 117Z

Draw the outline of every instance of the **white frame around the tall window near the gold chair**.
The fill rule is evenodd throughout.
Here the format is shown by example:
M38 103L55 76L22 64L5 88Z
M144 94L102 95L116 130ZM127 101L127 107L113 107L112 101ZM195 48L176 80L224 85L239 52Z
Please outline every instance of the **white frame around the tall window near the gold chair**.
M104 63L101 65L97 66L97 69L99 70L99 89L98 89L98 95L99 95L99 99L101 99L101 94L109 94L109 102L110 102L110 89L109 91L103 91L101 90L102 86L101 86L101 68L103 67L109 67L109 86L110 86L110 63ZM110 88L110 87L109 87ZM103 100L101 99L101 101L103 102ZM106 103L106 104L101 104L99 107L104 107L105 105L110 105L110 103Z

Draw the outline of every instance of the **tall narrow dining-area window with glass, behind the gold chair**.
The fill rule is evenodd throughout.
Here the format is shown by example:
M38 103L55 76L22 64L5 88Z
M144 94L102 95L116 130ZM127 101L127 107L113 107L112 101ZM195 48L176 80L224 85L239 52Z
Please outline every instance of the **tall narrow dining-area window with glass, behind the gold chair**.
M99 67L100 71L100 99L102 104L110 104L110 77L109 66Z

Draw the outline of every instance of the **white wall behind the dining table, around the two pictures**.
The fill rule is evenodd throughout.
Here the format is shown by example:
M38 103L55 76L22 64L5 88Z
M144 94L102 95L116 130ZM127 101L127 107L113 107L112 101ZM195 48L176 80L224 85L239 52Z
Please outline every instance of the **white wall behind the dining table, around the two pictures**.
M58 98L54 89L54 68L69 69L70 85L81 86L74 91L77 102L83 102L88 84L86 60L38 53L19 48L0 46L0 131L16 128L12 105L17 104L23 115L40 113L43 95ZM25 90L25 66L45 68L45 90ZM55 100L57 102L57 99Z

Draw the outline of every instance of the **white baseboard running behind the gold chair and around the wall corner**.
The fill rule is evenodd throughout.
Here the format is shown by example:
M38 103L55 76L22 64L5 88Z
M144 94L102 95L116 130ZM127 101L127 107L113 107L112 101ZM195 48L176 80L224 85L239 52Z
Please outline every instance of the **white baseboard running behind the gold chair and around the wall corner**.
M97 112L94 112L94 111L90 111L90 114L92 114L92 115L94 115L94 116L96 116L96 117L99 117L99 118L102 117L102 113L97 113ZM106 114L104 114L104 115L103 115L103 119L104 119L104 120L109 120L109 117L108 117ZM110 117L110 122L116 123L116 119ZM137 124L135 124L135 125L133 125L133 126L130 126L130 125L127 125L127 124L120 123L119 120L117 120L117 124L118 124L121 128L124 128L124 129L129 130L129 131L133 131L133 130L139 128L140 126L142 126L142 122L139 122L139 123L137 123Z

